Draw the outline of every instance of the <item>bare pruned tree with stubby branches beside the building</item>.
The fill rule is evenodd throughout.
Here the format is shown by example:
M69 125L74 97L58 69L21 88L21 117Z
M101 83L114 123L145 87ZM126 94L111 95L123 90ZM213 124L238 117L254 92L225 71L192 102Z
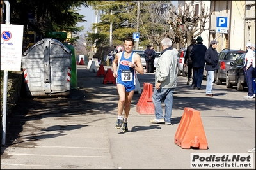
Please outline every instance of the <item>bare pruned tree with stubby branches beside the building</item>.
M170 6L165 13L166 22L170 24L168 36L173 43L182 43L185 46L191 39L199 36L203 31L212 11L205 10L205 3L200 6L200 13L195 12L195 7L185 3L184 9L180 4L178 8Z

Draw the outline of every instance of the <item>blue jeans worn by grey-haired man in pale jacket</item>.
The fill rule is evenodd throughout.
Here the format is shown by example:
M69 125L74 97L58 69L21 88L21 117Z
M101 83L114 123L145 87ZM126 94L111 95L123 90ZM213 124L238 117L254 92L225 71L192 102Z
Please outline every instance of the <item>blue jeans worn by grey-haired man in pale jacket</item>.
M155 117L157 119L164 118L164 121L166 123L171 123L173 91L174 91L174 88L160 88L159 90L155 88L152 96L152 101L155 107ZM162 101L165 104L164 117L163 117L163 110L161 106Z

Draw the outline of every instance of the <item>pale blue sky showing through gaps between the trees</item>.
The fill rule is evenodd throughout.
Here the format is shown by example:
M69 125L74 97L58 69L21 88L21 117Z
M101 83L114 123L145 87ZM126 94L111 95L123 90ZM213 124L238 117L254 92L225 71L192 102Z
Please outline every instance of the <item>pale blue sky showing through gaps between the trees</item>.
M175 6L177 6L178 1L172 1L172 4L174 4ZM77 24L78 27L84 25L84 31L83 33L86 33L87 31L90 31L90 27L92 23L96 23L95 19L96 19L96 15L95 15L95 11L92 10L92 7L89 8L84 8L82 7L81 10L78 12L81 15L86 16L84 19L87 20L87 22L79 22ZM99 18L98 18L99 20ZM92 31L90 31L92 32Z

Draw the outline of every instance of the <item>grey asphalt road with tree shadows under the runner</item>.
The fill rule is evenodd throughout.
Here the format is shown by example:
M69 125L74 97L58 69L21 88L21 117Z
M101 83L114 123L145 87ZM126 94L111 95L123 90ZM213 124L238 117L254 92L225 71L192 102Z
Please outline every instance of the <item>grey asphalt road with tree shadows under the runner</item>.
M129 131L123 133L115 129L116 85L104 85L104 77L86 67L77 65L80 89L70 97L21 101L8 121L1 169L191 169L191 153L248 153L255 146L255 99L243 99L246 92L214 84L216 96L207 97L205 80L201 90L194 90L178 76L172 125L151 124L154 115L137 113L141 94L136 93ZM144 82L154 83L154 73L138 74L138 80L143 89ZM184 107L200 111L209 149L182 149L174 143ZM20 128L19 133L11 136L10 127Z

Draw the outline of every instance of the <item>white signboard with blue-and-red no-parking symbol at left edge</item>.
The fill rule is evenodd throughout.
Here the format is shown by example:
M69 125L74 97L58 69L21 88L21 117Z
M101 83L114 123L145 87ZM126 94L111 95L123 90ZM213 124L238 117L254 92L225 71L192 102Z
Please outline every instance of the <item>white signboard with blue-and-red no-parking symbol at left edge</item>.
M20 71L23 25L1 24L1 70Z

